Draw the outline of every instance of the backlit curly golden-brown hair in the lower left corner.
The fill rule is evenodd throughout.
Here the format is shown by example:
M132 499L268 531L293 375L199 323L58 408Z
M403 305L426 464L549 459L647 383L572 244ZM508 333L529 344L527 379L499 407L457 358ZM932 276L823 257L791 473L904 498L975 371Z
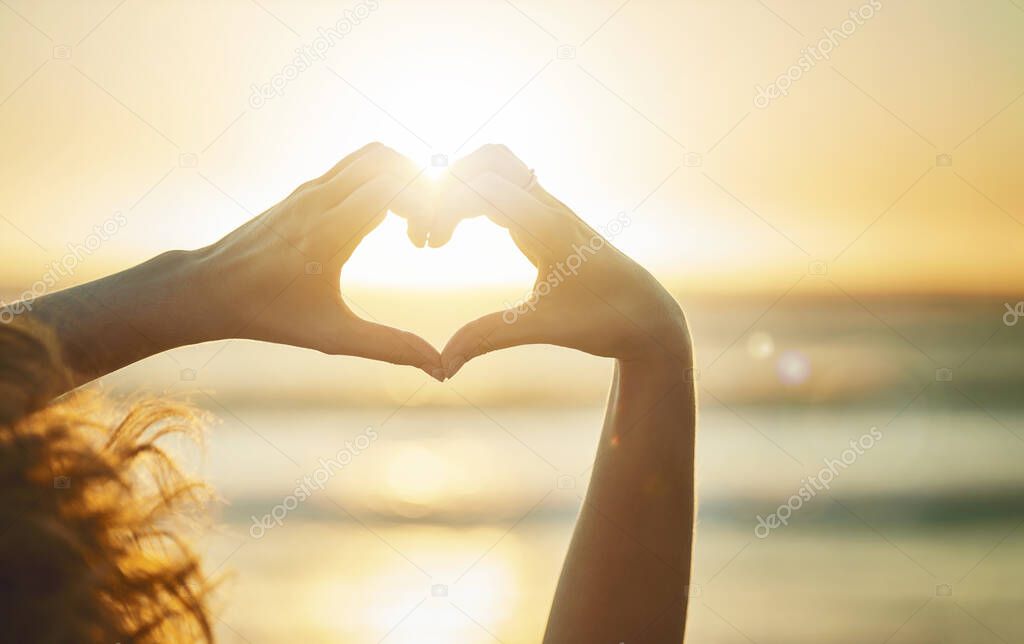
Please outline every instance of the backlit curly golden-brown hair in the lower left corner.
M207 488L158 441L187 405L73 392L47 330L0 325L0 624L18 641L212 642L184 538Z

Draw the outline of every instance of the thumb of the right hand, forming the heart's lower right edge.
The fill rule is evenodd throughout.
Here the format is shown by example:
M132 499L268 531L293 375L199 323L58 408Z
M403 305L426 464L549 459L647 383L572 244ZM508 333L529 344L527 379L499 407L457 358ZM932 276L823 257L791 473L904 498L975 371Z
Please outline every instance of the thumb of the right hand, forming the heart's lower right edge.
M524 344L548 344L549 320L543 312L525 307L488 313L457 331L441 351L444 377L452 378L462 366L473 359L509 347Z

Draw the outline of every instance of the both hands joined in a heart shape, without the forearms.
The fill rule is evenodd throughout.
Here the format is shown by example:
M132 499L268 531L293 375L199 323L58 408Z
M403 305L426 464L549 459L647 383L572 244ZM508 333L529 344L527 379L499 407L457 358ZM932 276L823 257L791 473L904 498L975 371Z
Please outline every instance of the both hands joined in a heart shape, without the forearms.
M221 285L209 296L230 311L218 333L413 366L437 380L473 357L522 344L689 359L676 301L549 195L507 147L479 148L433 188L421 174L409 159L371 143L203 249L211 282ZM462 219L485 215L537 266L531 295L464 326L441 353L415 334L362 319L345 304L339 275L387 210L409 220L416 246L434 248ZM629 223L620 216L609 228Z

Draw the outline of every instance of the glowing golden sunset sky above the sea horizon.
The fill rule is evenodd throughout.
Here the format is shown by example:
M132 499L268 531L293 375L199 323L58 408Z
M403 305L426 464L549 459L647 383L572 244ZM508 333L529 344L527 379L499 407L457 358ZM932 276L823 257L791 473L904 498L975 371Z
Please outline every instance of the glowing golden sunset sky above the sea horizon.
M0 285L104 222L66 284L208 244L376 139L424 164L504 142L694 289L1020 290L1022 33L1019 0L5 0ZM422 251L389 219L346 268L530 274L483 221Z

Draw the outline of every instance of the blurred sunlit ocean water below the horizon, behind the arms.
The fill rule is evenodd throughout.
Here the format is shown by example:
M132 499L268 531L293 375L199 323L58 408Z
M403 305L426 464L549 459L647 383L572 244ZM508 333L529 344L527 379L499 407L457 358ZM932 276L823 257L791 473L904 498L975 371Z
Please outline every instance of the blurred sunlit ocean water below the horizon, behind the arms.
M403 319L385 295L358 301L438 346L474 314L424 294ZM698 368L689 642L1024 641L1010 300L680 301ZM223 499L203 542L222 641L512 644L543 634L610 374L539 346L439 384L228 341L103 381L216 419L205 457L183 454Z

